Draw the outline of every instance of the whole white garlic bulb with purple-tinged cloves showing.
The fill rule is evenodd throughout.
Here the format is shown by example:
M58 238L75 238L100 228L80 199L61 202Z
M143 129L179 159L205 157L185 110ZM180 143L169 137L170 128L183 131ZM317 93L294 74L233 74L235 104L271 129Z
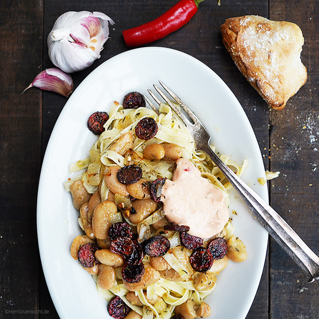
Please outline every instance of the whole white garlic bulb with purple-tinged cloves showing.
M96 59L108 39L111 18L101 12L70 11L54 23L48 36L49 57L67 73L83 70Z

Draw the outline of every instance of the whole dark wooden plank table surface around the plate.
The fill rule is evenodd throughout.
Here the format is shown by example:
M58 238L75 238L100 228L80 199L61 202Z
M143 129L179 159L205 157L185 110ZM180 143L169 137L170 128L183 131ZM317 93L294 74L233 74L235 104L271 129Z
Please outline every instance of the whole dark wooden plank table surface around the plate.
M177 0L2 0L0 2L0 318L58 318L43 276L36 233L37 186L42 159L66 98L23 90L45 68L47 36L67 11L101 11L115 22L101 58L73 75L75 88L108 58L129 50L122 30L153 20ZM269 200L319 254L319 5L318 0L214 0L183 28L149 46L188 53L213 69L245 110L265 168L280 171L269 182ZM260 15L296 23L303 31L307 83L281 111L269 109L224 48L219 26L230 17ZM272 239L248 319L319 318L319 285ZM231 306L231 302L230 302ZM13 313L13 311L15 313ZM42 314L41 314L42 313ZM231 318L227 318L231 319Z

